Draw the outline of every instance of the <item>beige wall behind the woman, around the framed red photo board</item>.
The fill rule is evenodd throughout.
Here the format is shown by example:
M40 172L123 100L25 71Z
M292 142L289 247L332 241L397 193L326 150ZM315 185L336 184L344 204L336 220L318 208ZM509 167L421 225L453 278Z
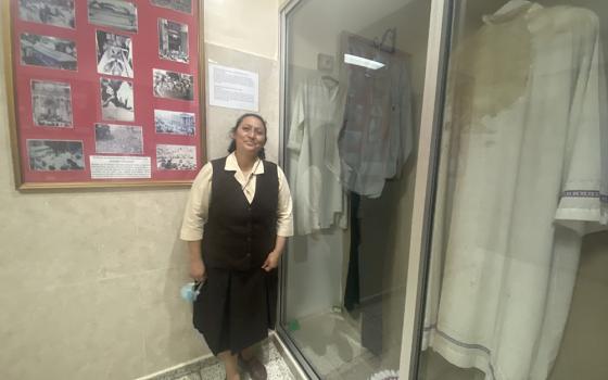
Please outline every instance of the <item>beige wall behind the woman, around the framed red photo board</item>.
M206 0L205 13L206 58L259 73L274 159L278 2ZM134 379L208 354L179 299L188 191L15 191L3 73L0 379ZM238 114L207 106L210 157L224 154Z

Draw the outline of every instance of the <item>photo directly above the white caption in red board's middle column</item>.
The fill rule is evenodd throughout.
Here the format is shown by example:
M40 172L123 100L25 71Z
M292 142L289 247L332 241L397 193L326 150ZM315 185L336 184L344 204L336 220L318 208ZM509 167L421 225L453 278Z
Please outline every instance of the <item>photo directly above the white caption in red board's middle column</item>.
M132 125L96 124L96 152L141 154L143 135L141 127Z

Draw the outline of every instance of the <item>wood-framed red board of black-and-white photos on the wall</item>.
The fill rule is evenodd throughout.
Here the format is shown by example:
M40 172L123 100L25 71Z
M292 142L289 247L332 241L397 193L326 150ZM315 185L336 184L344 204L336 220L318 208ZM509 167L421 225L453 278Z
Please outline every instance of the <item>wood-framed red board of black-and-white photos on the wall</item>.
M17 189L192 182L206 161L202 0L1 7Z

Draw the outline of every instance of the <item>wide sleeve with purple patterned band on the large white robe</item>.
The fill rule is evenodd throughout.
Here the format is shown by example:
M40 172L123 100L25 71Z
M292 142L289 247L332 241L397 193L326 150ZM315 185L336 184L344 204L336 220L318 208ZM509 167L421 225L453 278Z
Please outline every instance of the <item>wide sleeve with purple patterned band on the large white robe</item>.
M570 113L565 179L555 218L580 233L603 229L607 224L606 182L607 123L606 86L597 20L590 21ZM582 30L581 30L582 31Z

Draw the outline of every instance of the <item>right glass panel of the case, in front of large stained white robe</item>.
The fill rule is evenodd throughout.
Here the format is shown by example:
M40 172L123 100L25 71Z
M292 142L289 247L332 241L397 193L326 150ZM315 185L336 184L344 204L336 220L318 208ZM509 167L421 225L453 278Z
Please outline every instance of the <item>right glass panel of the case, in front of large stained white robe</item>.
M454 3L418 378L608 379L608 4Z

